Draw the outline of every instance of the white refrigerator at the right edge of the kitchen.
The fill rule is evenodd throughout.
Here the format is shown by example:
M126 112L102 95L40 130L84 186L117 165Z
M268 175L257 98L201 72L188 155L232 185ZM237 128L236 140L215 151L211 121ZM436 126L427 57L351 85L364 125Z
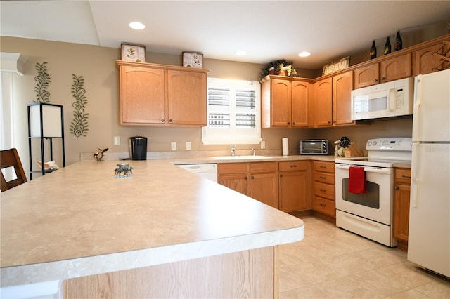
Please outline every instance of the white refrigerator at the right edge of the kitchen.
M450 69L414 81L408 260L450 277Z

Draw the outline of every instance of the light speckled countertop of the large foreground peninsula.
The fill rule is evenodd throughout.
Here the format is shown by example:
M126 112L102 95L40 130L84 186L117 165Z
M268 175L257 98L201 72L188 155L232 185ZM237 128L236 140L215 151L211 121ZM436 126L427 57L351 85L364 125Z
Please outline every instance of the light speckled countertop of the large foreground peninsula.
M79 162L0 196L2 287L303 239L302 220L169 161Z

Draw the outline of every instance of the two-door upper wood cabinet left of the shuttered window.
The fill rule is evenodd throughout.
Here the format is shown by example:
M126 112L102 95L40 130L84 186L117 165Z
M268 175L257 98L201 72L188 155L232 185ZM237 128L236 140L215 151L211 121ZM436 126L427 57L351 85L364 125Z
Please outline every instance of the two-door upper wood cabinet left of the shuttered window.
M207 69L116 61L120 124L205 126Z

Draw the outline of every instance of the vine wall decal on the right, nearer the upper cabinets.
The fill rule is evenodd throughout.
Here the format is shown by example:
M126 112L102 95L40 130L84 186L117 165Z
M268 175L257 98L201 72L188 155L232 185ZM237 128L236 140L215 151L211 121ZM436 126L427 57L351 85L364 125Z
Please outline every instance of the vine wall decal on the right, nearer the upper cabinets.
M87 105L87 98L84 93L86 90L83 88L84 79L83 76L77 77L75 74L72 74L73 84L70 88L72 90L72 96L75 98L75 102L73 102L72 107L74 119L70 124L70 133L75 136L86 136L89 131L88 124L88 115L86 113L85 108Z

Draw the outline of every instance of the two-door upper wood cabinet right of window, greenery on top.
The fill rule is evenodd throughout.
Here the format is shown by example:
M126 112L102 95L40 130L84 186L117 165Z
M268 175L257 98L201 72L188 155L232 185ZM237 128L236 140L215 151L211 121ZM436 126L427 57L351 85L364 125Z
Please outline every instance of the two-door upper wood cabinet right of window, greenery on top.
M262 81L262 128L308 126L309 79L268 76Z

